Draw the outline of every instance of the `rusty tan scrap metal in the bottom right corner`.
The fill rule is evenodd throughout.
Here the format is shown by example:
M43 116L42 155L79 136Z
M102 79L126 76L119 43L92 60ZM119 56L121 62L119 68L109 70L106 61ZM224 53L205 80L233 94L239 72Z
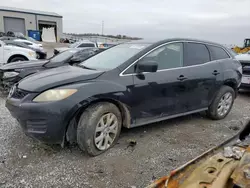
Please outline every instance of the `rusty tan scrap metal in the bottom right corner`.
M155 181L148 188L250 187L250 122L219 146Z

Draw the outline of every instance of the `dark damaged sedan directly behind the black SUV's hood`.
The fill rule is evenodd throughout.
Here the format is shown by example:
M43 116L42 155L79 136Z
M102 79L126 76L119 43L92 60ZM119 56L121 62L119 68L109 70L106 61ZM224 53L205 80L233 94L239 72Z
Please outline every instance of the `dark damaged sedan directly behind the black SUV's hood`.
M3 65L0 67L0 87L4 91L9 91L13 84L31 74L66 64L77 64L99 52L98 48L76 48L66 50L48 60L16 62Z

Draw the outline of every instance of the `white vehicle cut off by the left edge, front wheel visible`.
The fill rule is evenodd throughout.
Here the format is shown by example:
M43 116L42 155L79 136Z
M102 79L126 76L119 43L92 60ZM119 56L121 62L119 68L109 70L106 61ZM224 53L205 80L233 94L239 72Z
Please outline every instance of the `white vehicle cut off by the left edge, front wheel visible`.
M35 51L13 45L6 45L0 41L0 65L16 61L37 60Z

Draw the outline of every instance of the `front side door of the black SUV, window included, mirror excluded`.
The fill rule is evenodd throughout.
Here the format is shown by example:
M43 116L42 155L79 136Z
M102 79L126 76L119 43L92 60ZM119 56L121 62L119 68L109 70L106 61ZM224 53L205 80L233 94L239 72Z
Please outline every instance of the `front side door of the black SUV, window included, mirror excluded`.
M136 124L186 112L183 43L161 46L140 61L156 61L158 70L154 73L134 74L131 110L136 117Z

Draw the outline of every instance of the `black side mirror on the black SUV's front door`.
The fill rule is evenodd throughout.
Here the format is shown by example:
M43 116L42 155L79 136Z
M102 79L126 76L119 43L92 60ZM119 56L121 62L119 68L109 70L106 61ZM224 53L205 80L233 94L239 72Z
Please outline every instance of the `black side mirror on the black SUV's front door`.
M158 64L156 61L139 61L136 65L136 73L156 72Z

